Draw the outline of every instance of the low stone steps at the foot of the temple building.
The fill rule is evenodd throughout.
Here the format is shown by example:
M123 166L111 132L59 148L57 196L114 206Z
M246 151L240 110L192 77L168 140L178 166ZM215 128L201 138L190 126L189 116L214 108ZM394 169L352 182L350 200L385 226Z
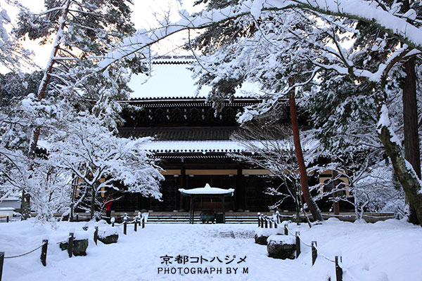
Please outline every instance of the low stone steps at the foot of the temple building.
M195 212L194 222L202 223L200 213ZM189 213L155 213L148 216L148 223L189 223ZM257 215L254 213L226 213L226 223L258 223Z

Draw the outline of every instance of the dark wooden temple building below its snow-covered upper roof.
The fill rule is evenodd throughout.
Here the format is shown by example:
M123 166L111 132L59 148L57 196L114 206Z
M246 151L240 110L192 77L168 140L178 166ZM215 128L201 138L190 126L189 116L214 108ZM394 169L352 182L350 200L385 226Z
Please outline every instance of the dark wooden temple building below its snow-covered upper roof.
M162 200L126 193L115 202L115 211L189 211L190 198L181 196L179 188L234 188L234 196L226 197L226 211L264 211L280 198L267 195L267 188L279 187L281 181L269 171L241 163L231 156L248 153L231 141L238 130L236 114L243 107L257 103L255 98L227 100L224 109L215 115L205 98L145 98L129 101L138 110L126 109L127 120L120 128L124 137L155 137L151 148L158 164L165 169L161 183ZM281 192L287 192L281 187ZM294 210L293 200L285 200L280 209ZM195 210L222 209L219 198L197 198Z

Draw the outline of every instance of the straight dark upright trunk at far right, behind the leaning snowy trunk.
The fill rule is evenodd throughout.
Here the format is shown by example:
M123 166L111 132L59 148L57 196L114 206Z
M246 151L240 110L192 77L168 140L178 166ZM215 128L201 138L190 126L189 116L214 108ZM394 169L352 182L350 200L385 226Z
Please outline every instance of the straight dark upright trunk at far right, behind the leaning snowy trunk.
M404 11L409 11L409 0L403 2ZM416 74L415 59L410 58L404 63L403 85L403 127L404 127L404 158L413 166L418 178L421 178L421 152L418 136L418 107L416 105ZM409 202L410 203L410 202ZM409 222L419 224L416 211L409 204Z

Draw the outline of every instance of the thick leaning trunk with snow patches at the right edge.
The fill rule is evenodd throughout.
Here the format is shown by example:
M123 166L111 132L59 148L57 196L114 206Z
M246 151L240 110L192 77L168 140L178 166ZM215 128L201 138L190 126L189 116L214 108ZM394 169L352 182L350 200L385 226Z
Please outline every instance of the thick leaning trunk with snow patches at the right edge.
M419 224L422 222L422 190L418 175L411 164L404 159L402 148L397 143L389 129L388 110L385 105L378 110L380 124L378 124L378 137L383 143L385 153L390 157L395 175L403 187L411 206L414 207ZM394 141L393 141L394 140Z

